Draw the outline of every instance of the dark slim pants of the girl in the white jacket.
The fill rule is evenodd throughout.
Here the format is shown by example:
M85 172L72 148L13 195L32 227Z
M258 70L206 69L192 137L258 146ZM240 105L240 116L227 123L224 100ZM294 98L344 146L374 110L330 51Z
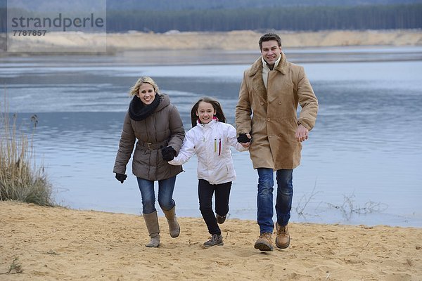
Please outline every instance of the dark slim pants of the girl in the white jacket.
M205 223L207 224L208 232L211 235L222 234L222 231L218 227L214 211L212 211L212 195L215 194L215 212L219 214L219 216L226 216L226 214L229 213L230 189L231 181L228 183L212 185L208 181L202 179L199 180L199 209Z

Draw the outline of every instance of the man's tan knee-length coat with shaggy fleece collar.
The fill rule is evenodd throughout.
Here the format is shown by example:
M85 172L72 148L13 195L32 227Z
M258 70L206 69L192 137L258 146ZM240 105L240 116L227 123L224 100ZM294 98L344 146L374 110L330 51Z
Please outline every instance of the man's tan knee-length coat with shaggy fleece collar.
M298 105L302 107L297 117ZM289 63L281 53L279 65L268 74L267 89L259 58L243 74L236 106L237 133L250 133L253 168L294 169L302 145L296 141L298 122L312 130L318 100L303 67Z

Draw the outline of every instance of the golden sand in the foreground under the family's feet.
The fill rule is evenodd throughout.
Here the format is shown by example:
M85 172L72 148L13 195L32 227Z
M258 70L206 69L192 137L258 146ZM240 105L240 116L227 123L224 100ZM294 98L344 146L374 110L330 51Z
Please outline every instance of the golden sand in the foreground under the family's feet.
M137 215L17 202L0 214L4 281L422 280L422 228L290 223L290 247L261 252L255 221L227 219L224 246L204 249L202 218L179 218L171 238L160 217L160 247L146 248Z

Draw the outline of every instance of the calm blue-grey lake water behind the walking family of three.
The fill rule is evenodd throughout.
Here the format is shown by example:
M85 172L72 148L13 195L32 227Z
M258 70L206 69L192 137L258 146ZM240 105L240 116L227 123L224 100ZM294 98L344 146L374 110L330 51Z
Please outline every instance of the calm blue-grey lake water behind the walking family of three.
M286 50L305 67L319 98L316 126L293 176L292 221L422 227L422 48ZM185 129L200 96L222 102L234 124L243 70L254 52L149 52L117 57L0 58L1 110L34 135L56 202L139 214L134 176L114 178L127 91L141 75L177 105ZM368 61L366 61L368 60ZM153 65L153 66L151 66ZM257 173L234 152L231 218L256 217ZM130 165L130 163L129 163ZM200 216L196 159L177 177L179 216ZM130 166L128 174L131 174ZM162 215L162 213L160 213Z

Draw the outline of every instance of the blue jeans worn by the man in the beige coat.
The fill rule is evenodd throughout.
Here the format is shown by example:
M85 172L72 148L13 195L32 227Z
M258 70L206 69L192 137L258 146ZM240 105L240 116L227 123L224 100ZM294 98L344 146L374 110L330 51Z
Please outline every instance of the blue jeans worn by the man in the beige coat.
M273 186L274 171L268 168L258 168L258 195L257 195L257 221L260 233L272 233L274 230ZM286 226L290 219L293 199L293 169L276 171L277 197L276 215L277 223Z

